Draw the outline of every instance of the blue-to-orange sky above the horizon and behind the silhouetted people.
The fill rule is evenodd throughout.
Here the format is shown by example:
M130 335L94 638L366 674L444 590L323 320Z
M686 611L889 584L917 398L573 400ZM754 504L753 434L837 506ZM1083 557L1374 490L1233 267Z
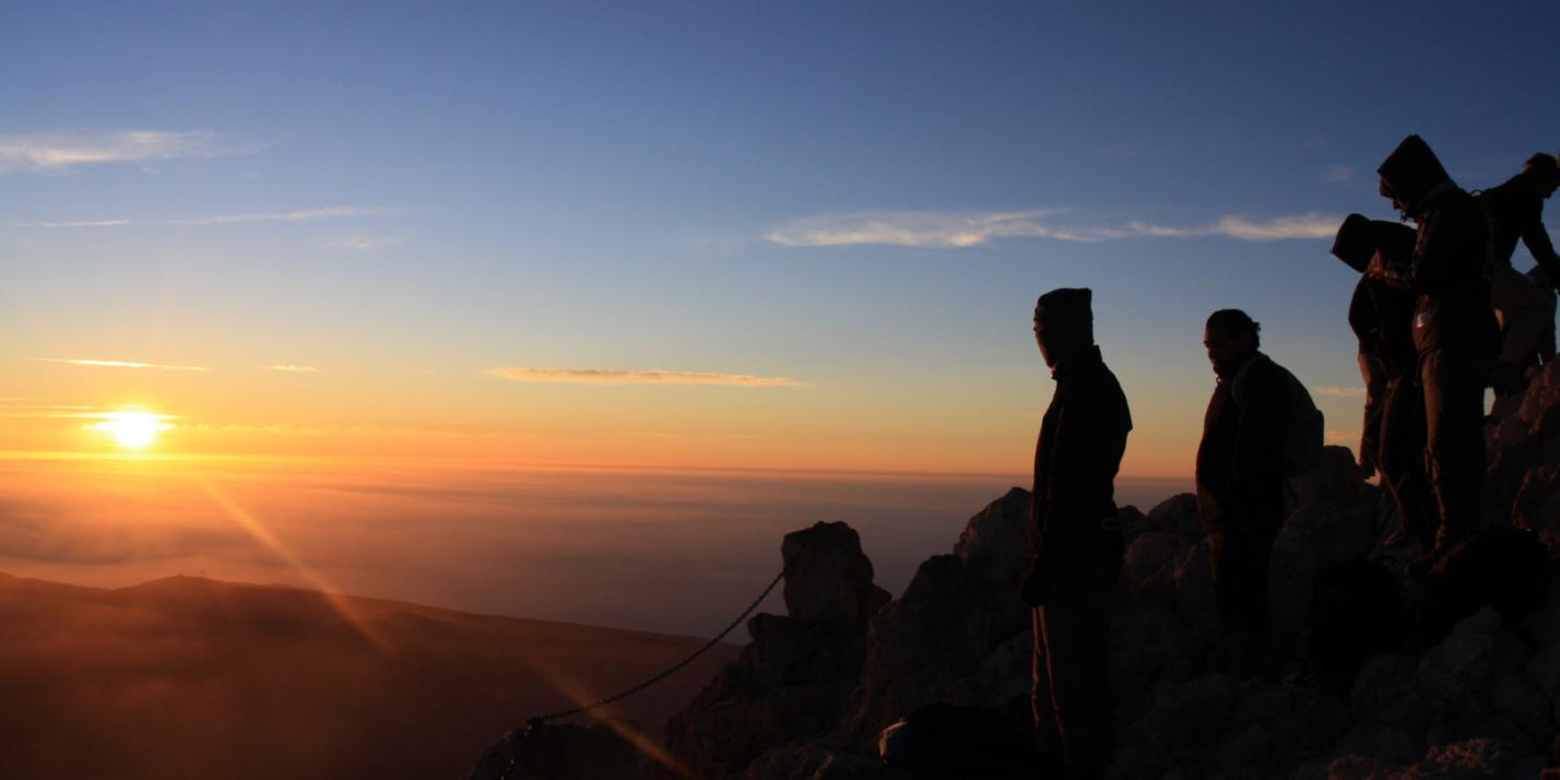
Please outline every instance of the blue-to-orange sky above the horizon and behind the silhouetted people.
M1560 148L1552 11L11 3L0 449L1023 474L1072 285L1123 476L1190 474L1220 307L1349 445L1332 232L1409 133Z

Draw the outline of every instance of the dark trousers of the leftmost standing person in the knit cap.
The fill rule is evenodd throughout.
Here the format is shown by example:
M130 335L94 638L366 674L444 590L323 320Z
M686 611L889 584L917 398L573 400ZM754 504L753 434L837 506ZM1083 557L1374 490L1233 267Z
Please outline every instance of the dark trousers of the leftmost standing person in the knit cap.
M1119 571L1119 563L1067 565L1056 573L1045 605L1034 610L1036 725L1055 724L1072 778L1103 777L1111 764L1111 604ZM1042 693L1050 702L1041 700ZM1047 704L1050 713L1042 713Z

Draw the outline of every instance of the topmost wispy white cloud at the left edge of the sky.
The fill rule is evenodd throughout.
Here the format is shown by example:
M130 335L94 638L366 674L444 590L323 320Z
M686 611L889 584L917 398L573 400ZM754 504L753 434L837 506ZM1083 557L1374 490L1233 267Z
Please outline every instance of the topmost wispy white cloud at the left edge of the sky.
M114 129L0 134L0 173L61 173L81 165L222 158L261 147L223 144L215 133Z

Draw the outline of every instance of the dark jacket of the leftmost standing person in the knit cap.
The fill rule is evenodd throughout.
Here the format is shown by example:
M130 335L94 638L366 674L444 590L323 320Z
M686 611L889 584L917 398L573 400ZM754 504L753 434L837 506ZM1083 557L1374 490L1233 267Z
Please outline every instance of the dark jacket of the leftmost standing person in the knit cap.
M1115 473L1133 415L1115 374L1094 346L1059 363L1056 392L1034 448L1030 552L1045 569L1067 562L1115 562Z

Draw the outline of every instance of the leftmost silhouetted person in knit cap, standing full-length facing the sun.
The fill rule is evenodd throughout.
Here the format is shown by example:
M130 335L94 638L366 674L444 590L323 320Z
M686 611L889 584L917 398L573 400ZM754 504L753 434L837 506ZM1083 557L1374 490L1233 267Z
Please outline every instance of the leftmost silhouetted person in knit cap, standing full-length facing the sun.
M1034 607L1034 724L1042 738L1061 736L1069 777L1101 777L1111 763L1106 657L1122 568L1115 473L1133 418L1094 343L1087 289L1042 295L1034 340L1056 379L1034 449L1033 562L1022 588Z

